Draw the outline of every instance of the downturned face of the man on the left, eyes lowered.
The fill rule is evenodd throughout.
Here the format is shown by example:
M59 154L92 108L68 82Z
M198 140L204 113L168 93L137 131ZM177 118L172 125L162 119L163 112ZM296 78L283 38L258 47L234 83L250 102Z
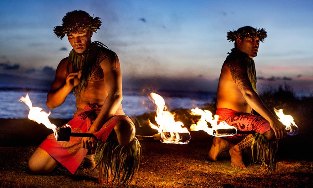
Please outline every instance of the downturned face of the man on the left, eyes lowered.
M91 43L92 32L89 30L79 30L77 33L68 33L67 38L76 53L82 54L88 50Z

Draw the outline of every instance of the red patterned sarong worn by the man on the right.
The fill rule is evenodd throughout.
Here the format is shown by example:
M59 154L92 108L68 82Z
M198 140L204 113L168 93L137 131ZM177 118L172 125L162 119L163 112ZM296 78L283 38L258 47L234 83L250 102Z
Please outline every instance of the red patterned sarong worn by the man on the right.
M263 134L272 129L266 119L252 113L237 112L227 108L218 108L215 114L219 115L218 120L225 121L228 125L234 126L239 131L255 131ZM233 143L239 143L246 136L247 134L236 134L233 136L225 136L223 138Z

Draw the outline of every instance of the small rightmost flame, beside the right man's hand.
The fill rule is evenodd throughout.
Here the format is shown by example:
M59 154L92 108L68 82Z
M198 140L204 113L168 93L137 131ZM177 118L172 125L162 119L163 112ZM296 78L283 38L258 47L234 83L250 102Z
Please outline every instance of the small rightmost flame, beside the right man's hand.
M296 135L298 134L299 128L294 122L294 118L290 115L285 115L283 109L277 110L274 108L276 115L278 116L278 120L286 126L286 130L288 135Z

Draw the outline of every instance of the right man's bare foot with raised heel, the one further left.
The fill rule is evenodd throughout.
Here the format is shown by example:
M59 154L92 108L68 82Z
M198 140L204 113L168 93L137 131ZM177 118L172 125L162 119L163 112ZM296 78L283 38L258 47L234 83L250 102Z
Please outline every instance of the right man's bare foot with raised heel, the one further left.
M232 142L229 142L221 137L214 137L213 138L213 144L211 146L211 149L208 153L209 160L210 161L217 161L217 157L219 154L221 154L223 151L228 150L232 148L235 144Z

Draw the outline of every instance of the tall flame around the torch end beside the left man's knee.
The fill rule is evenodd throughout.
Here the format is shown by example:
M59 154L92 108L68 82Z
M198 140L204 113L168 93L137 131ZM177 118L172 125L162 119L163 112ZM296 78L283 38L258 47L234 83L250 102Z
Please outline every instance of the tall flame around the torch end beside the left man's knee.
M189 134L190 138L188 129L183 128L184 124L182 122L176 122L174 120L175 113L173 114L167 111L163 97L153 92L150 93L150 96L157 106L155 120L158 124L158 126L156 126L149 122L150 127L156 129L161 134L163 143L187 144L189 139L183 140L179 133Z

